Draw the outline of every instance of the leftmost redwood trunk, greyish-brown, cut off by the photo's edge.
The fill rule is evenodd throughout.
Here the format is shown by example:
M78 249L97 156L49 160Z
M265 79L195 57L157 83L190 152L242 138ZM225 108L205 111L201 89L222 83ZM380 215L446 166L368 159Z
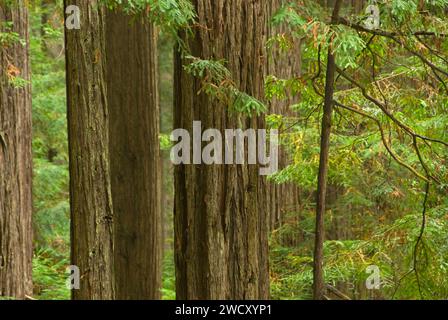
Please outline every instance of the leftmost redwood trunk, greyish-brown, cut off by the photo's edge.
M0 47L0 297L23 299L33 292L32 153L28 9L0 1L0 32L12 22L26 42ZM11 77L27 83L19 88Z

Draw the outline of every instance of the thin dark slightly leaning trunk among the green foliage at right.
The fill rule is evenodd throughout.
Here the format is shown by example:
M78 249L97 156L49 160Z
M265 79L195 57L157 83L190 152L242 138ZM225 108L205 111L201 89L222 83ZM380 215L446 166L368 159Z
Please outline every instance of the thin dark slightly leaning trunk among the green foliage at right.
M339 18L342 0L336 0L333 10L332 23L336 23ZM315 230L315 246L314 246L314 299L322 300L325 295L324 280L324 239L325 239L325 209L327 195L328 180L328 159L330 153L330 134L331 134L331 118L333 115L334 100L334 80L336 73L335 56L332 52L333 48L328 49L327 74L325 85L325 102L324 114L322 117L322 133L321 133L321 149L320 149L320 165L317 186L317 208L316 208L316 230Z

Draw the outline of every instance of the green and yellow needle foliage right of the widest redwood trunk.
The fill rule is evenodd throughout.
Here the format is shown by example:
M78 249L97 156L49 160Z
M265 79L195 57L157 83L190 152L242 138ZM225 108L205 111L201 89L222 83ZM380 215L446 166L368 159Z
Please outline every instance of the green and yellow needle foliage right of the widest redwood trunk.
M330 9L316 1L290 4L274 23L289 33L271 45L303 43L303 74L271 76L268 98L300 96L296 117L270 115L283 131L291 163L272 177L295 183L308 200L300 223L286 223L272 238L273 295L311 297L314 205L319 166L326 52L337 57L336 110L330 151L325 277L356 299L446 299L448 1L377 1L381 26L365 27L364 12ZM294 221L295 221L294 220ZM311 221L311 222L309 222ZM293 234L299 247L285 247ZM287 262L289 261L289 262ZM381 290L365 290L366 268L381 270Z

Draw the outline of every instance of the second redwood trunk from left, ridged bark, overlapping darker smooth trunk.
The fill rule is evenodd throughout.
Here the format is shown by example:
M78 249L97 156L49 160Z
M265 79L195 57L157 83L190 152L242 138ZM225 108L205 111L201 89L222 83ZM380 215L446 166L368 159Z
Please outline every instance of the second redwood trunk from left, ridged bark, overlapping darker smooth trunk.
M75 299L113 299L113 209L109 169L105 11L80 8L80 30L66 29L72 264L81 273Z

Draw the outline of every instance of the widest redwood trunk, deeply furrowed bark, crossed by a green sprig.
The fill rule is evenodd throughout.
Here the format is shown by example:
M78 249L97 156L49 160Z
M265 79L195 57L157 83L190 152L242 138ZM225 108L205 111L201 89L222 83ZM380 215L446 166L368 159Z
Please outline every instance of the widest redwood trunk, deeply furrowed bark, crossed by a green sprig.
M225 59L241 91L263 99L266 74L265 0L194 0L192 55ZM174 128L263 128L206 94L201 80L175 60ZM268 192L258 166L175 168L175 262L178 299L266 299L269 296Z

